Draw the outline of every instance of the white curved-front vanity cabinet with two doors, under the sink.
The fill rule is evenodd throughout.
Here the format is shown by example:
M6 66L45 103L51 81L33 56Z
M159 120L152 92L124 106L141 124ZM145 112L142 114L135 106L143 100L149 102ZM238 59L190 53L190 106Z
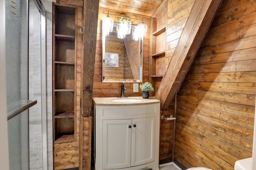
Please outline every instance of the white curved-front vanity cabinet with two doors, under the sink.
M94 98L95 169L158 170L160 101L104 101Z

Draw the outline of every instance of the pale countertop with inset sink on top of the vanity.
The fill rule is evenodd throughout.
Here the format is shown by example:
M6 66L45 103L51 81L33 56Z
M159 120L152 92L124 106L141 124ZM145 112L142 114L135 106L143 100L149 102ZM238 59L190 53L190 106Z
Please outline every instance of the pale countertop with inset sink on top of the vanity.
M116 102L115 100L131 100L132 102ZM136 102L134 102L134 101ZM139 100L139 101L138 101ZM160 100L153 98L144 99L141 96L118 98L118 97L108 97L108 98L93 98L94 104L96 106L131 106L131 105L144 105L144 104L156 104L160 103Z

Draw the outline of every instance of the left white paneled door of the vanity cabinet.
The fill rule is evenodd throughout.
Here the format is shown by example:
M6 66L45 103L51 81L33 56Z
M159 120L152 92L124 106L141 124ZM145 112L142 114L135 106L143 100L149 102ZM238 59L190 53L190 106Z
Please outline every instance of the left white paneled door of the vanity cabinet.
M131 166L132 119L103 120L103 169Z

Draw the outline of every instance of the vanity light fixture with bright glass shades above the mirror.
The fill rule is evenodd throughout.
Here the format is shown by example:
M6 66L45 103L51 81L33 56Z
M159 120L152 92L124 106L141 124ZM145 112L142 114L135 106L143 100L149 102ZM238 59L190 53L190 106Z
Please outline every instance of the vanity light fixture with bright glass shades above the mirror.
M111 20L109 15L112 15L112 14L108 14L107 17L104 17L102 19L102 33L104 36L108 36L109 33L113 31L114 20L112 18ZM113 15L113 16L116 16L116 15ZM128 19L130 20L131 18L126 17L125 20L121 21L121 23L115 23L117 24L116 26L117 37L120 39L125 38L126 35L129 35L131 33L131 29L132 29L133 40L138 41L140 39L143 39L143 37L146 37L148 25L144 23L143 19L142 19L142 23L139 23L137 26L132 25L132 23ZM138 20L138 19L133 19L133 20Z

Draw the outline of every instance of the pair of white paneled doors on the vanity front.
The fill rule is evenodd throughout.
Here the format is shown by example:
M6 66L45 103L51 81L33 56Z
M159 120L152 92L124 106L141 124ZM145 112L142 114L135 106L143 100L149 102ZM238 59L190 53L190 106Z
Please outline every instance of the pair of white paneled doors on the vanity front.
M155 117L103 120L103 169L154 161Z

